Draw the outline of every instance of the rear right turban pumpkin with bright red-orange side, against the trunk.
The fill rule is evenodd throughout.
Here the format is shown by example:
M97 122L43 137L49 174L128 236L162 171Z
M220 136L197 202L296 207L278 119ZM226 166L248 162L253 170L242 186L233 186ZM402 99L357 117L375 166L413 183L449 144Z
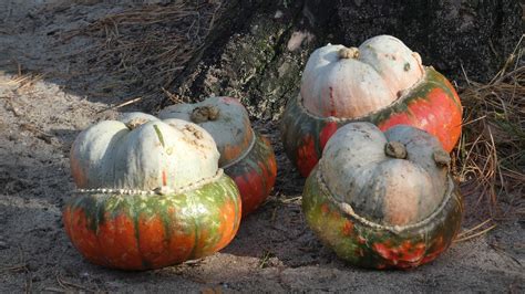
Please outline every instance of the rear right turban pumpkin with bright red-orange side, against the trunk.
M400 40L379 35L359 48L328 44L309 57L300 93L281 119L287 156L307 177L330 136L351 122L385 130L411 125L446 151L460 138L462 106L451 83Z

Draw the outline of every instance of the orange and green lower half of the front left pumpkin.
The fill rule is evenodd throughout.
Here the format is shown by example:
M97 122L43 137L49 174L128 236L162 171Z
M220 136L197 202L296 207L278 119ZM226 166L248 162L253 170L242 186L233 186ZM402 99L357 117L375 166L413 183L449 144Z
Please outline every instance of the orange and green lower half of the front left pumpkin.
M64 228L92 263L159 269L213 254L235 237L241 202L227 176L178 195L79 193L66 202Z

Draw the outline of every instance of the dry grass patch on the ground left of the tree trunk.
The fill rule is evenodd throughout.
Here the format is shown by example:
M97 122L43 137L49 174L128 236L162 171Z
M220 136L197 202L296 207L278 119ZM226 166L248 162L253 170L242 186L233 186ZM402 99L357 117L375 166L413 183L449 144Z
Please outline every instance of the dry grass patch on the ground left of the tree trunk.
M220 1L141 6L105 15L64 38L87 34L100 40L87 54L93 55L90 67L115 77L105 88L125 84L127 93L135 93L130 99L134 102L164 96L177 101L166 88L204 44L219 8Z

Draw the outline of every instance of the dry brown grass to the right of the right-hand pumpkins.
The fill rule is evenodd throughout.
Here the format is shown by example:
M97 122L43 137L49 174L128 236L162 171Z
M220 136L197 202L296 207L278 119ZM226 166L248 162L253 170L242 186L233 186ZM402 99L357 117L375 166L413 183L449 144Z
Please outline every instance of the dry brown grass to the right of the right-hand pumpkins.
M482 204L477 207L494 220L525 216L522 40L491 82L481 84L466 78L466 87L460 90L465 123L455 151L456 176L465 196L477 196L476 202Z

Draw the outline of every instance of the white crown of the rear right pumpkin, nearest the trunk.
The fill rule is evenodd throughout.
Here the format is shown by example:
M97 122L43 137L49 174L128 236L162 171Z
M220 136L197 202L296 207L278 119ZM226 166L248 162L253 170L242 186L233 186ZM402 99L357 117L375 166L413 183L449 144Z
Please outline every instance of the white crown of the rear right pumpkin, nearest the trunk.
M313 115L358 118L384 108L423 80L421 56L391 35L359 48L328 44L302 73L302 104Z

